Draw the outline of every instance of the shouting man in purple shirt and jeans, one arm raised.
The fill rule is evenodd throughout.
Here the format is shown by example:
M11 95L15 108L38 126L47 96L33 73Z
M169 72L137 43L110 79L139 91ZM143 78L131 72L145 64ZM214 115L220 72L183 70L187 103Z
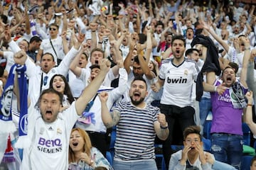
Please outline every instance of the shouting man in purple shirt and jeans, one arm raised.
M242 162L242 113L247 106L246 74L250 58L250 40L242 37L241 42L245 45L245 52L240 79L236 78L234 69L227 66L223 69L221 80L216 79L215 72L207 72L207 83L203 84L203 90L210 92L212 103L211 153L216 160L235 169L240 169ZM225 91L219 94L217 91L223 87Z

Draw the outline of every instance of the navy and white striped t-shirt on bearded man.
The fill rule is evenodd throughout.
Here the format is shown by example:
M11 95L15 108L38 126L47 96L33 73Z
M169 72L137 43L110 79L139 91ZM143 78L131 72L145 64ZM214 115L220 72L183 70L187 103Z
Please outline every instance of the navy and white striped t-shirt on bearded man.
M130 102L121 101L114 110L120 112L114 160L132 162L154 159L154 121L160 113L159 108L149 104L145 108L137 108Z

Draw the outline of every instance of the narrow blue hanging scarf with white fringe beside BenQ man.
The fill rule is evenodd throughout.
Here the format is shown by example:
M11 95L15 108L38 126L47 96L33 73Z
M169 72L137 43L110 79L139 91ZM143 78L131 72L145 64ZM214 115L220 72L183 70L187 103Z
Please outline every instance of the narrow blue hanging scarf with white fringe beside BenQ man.
M18 140L15 144L16 148L29 147L31 142L28 134L28 84L26 77L26 65L18 65L16 68L18 76L18 89L20 96L20 118L18 121Z

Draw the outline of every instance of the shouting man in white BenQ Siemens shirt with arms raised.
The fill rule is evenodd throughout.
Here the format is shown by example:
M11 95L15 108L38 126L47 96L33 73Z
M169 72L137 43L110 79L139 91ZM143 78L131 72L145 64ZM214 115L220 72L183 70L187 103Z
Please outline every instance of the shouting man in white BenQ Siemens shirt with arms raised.
M23 65L26 61L26 53L20 52L15 55L15 62ZM42 91L38 106L28 100L28 138L31 145L23 149L21 169L68 169L68 142L70 132L76 120L85 110L85 106L97 93L105 75L110 69L110 62L102 60L101 71L89 84L81 96L74 101L69 108L63 111L63 96L54 89ZM21 100L18 95L17 75L14 91L17 101Z

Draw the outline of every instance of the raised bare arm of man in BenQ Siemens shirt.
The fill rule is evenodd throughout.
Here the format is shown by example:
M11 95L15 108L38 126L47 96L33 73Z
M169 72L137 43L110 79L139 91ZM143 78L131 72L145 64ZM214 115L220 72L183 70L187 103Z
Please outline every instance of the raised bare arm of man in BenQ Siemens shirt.
M92 99L93 96L97 93L97 90L100 88L107 72L110 70L110 61L103 59L100 63L100 73L93 79L92 83L85 87L82 91L81 96L75 101L75 108L78 115L81 115L85 110L87 103Z

